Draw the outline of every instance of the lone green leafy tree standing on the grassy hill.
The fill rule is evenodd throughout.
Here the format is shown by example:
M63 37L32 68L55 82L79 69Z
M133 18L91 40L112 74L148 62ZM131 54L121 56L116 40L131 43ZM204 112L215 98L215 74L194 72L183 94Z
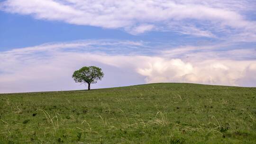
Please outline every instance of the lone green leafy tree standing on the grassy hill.
M90 90L91 83L97 83L103 76L104 73L101 72L101 68L96 66L84 66L80 70L75 71L72 78L75 82L88 83L88 90Z

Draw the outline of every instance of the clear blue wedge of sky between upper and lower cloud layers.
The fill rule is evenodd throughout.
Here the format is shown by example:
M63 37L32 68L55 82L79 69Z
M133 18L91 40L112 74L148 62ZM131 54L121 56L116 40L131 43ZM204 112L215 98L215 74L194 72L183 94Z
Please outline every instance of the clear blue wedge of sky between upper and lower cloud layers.
M177 32L151 31L146 34L131 35L122 29L106 29L93 26L79 26L59 21L46 21L31 16L10 14L0 11L1 51L52 42L84 39L115 39L148 41L168 45L193 44L213 41L208 37L182 36Z

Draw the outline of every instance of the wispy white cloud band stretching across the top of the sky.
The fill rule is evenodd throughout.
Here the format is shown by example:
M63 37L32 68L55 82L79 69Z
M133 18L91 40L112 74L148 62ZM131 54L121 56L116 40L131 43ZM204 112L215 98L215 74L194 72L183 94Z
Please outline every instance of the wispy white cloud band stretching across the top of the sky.
M246 36L255 40L250 0L5 0L0 9L69 24L122 28L130 34L175 31L193 36ZM190 25L187 25L190 23ZM254 35L254 36L253 36Z

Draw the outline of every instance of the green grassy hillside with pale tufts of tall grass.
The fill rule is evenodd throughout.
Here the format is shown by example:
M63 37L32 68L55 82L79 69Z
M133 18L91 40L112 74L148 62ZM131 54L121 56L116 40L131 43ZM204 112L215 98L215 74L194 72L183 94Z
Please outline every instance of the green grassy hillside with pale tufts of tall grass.
M0 144L256 144L256 88L155 83L0 94Z

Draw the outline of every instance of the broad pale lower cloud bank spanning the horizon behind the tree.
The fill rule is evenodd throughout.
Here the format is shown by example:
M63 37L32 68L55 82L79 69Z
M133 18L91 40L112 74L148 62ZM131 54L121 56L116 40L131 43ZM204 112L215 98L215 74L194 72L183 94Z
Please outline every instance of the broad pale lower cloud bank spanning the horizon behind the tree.
M84 86L74 83L71 76L84 65L97 65L105 72L103 81L93 88L145 82L256 86L255 50L240 50L245 55L222 50L219 53L227 55L216 56L205 55L218 54L212 46L202 52L187 46L153 55L129 53L129 50L143 51L147 47L150 45L145 42L99 40L51 43L0 52L0 93L83 89ZM178 58L167 52L177 52ZM189 54L196 56L188 57ZM234 59L236 56L240 59Z

